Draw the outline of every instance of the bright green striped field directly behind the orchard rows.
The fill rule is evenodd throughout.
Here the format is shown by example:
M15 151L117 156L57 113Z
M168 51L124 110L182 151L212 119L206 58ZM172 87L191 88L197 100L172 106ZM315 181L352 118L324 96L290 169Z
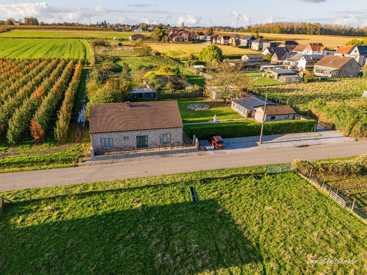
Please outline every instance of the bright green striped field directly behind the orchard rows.
M90 60L90 49L81 39L0 38L0 57Z

